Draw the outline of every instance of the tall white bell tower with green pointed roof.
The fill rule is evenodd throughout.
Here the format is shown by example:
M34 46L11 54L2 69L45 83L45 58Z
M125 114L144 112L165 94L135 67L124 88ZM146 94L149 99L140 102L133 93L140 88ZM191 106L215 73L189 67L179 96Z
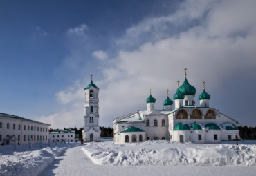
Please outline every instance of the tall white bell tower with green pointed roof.
M93 83L91 75L91 83L84 88L84 130L82 131L82 139L86 142L100 141L99 91L100 89Z

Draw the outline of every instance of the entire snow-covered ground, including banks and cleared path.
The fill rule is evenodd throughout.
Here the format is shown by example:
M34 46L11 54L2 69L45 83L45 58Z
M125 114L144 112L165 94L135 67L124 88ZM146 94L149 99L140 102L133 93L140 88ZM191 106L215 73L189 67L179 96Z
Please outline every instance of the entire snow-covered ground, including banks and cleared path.
M256 141L231 143L0 146L0 175L255 175Z

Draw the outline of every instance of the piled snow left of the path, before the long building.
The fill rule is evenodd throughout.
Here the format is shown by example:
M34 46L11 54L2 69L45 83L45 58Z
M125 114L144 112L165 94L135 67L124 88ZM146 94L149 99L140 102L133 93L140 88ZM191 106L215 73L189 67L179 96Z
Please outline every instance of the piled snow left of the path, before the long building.
M38 175L66 148L79 144L44 144L43 148L33 144L32 150L29 150L28 145L21 145L17 151L12 145L0 146L0 175Z

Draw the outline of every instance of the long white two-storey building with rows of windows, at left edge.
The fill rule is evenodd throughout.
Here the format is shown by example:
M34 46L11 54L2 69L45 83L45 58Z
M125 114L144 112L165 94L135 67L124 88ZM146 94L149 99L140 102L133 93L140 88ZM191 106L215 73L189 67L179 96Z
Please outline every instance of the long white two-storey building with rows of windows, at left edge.
M8 145L17 139L18 144L28 144L31 139L33 143L48 141L49 124L33 121L16 115L0 113L0 144Z

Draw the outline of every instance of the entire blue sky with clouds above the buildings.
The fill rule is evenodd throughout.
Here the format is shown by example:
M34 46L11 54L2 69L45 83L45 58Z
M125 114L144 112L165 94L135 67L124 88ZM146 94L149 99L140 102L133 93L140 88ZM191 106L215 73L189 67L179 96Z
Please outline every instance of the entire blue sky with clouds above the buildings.
M0 1L0 112L82 127L83 88L100 88L100 125L156 108L176 81L256 126L255 1ZM173 99L172 99L173 100Z

